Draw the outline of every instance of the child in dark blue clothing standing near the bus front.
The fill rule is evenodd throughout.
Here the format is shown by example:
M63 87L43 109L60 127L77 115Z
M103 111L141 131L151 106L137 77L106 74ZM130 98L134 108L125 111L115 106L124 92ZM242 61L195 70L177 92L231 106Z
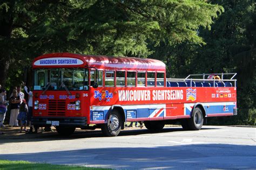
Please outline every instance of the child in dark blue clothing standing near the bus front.
M20 133L22 133L22 130L27 132L26 130L26 115L28 114L28 105L26 105L26 100L24 99L21 106L19 107L19 114L18 114L18 121L21 124L21 130L19 130ZM24 126L24 129L23 129Z

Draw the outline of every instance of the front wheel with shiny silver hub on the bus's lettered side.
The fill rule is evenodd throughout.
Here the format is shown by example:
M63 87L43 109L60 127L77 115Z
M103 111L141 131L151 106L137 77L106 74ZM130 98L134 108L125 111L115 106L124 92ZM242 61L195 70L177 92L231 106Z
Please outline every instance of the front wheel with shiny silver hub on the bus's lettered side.
M107 119L107 123L102 125L103 134L109 137L118 136L122 128L122 123L122 118L118 111L113 110Z

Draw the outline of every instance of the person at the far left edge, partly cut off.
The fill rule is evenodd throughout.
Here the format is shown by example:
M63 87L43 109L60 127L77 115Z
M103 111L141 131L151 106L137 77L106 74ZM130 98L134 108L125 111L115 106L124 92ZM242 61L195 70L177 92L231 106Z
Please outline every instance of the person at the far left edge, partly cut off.
M4 128L4 119L7 111L6 90L0 89L0 128Z

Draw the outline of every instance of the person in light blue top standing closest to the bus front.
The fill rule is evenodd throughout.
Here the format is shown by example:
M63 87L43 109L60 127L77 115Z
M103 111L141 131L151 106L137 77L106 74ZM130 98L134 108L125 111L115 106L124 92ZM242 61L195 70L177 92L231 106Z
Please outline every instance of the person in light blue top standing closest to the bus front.
M30 90L30 87L26 87L24 86L24 90L26 92L26 94L28 94L28 107L29 107L29 112L28 115L26 117L26 120L29 123L29 132L28 133L32 133L33 132L33 126L31 124L31 118L32 118L32 110L33 110L33 93ZM37 132L37 128L35 127L35 132Z

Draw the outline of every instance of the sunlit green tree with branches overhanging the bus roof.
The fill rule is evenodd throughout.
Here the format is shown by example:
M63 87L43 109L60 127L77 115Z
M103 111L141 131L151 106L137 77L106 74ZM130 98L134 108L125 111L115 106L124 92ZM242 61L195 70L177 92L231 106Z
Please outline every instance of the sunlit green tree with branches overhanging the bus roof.
M199 27L210 29L213 18L223 12L221 6L203 0L12 0L2 1L0 9L3 86L8 74L15 75L9 70L12 63L23 65L43 53L147 57L154 52L149 42L155 47L160 42L203 44Z

